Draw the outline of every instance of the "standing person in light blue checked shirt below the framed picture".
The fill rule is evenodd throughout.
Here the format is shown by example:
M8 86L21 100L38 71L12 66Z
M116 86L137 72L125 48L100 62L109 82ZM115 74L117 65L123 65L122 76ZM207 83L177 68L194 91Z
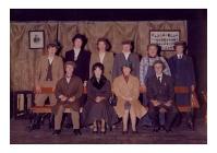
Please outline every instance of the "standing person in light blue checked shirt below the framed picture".
M159 55L160 54L158 52L158 46L156 44L149 44L147 46L147 56L143 57L141 60L141 63L140 63L140 82L141 82L141 86L144 91L143 105L145 105L145 106L148 105L148 101L146 97L146 82L147 82L148 78L155 75L155 70L153 68L153 63L156 60L161 60L164 62L164 64L166 66L164 73L167 75L171 75L171 72L170 72L167 61L165 60L164 57L160 57Z

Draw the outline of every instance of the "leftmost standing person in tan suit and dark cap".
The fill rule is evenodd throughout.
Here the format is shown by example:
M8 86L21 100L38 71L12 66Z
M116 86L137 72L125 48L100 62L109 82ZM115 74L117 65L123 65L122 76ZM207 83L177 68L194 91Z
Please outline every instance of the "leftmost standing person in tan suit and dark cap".
M56 84L59 79L63 76L63 61L62 58L56 56L58 50L56 43L48 44L46 55L41 56L36 62L35 71L35 105L44 106L45 101L49 97L50 105L53 106L57 103L53 93L43 93L43 89L50 87L51 92L55 92ZM40 127L40 116L38 115L34 120L33 129ZM52 116L50 119L50 128L52 128Z

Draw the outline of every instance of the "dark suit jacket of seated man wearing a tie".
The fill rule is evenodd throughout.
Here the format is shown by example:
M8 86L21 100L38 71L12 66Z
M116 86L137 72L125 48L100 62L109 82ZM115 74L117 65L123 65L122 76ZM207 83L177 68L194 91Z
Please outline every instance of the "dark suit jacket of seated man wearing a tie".
M147 98L149 101L155 99L166 103L168 101L173 102L173 97L174 87L171 76L162 74L161 83L159 83L156 75L147 80Z

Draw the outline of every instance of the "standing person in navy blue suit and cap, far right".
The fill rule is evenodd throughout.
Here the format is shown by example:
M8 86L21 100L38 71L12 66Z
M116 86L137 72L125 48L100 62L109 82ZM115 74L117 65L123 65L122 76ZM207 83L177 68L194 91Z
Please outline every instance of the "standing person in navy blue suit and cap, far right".
M183 86L190 89L191 92L195 90L195 76L192 58L185 55L186 43L178 42L174 44L176 55L169 59L172 78L176 86ZM176 94L174 102L179 106L191 107L191 92L189 94ZM188 114L186 123L193 129L193 115Z

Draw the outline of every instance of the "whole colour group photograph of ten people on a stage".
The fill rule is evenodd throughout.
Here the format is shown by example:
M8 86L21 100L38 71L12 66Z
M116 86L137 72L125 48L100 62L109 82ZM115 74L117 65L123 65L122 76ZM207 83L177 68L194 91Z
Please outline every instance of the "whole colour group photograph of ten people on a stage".
M206 144L206 9L11 9L11 144Z

